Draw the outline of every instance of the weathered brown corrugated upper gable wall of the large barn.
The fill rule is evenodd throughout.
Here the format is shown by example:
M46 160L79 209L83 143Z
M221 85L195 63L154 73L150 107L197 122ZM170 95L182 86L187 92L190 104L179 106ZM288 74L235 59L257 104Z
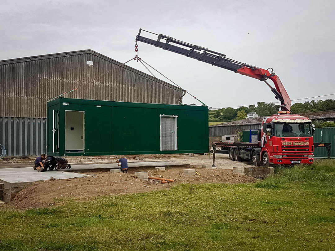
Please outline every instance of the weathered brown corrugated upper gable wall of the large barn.
M93 51L48 57L0 62L0 117L46 118L49 99L118 66ZM182 95L178 87L123 66L66 97L180 104Z

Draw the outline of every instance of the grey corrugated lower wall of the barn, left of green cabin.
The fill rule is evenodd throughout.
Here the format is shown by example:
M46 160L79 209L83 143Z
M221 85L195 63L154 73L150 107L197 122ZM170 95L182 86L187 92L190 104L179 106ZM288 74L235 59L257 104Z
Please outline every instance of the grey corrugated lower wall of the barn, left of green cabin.
M0 117L0 144L6 156L29 156L46 153L45 118Z

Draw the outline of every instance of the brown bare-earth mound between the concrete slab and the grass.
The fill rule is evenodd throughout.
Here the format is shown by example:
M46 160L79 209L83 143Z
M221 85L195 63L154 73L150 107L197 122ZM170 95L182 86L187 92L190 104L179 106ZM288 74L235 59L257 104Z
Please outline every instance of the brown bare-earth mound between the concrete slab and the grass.
M109 170L88 171L86 174L96 174L97 178L73 178L66 180L48 180L34 182L24 188L14 201L6 205L15 209L37 208L55 204L57 197L76 197L82 199L91 196L130 194L152 190L168 189L182 183L250 183L256 179L235 174L227 169L196 168L200 174L184 176L185 166L168 167L165 170L155 170L152 167L132 168L129 173L111 173ZM147 171L149 176L176 179L174 183L161 184L156 180L140 180L135 178L135 171ZM83 173L83 172L81 172ZM5 206L5 205L4 205Z

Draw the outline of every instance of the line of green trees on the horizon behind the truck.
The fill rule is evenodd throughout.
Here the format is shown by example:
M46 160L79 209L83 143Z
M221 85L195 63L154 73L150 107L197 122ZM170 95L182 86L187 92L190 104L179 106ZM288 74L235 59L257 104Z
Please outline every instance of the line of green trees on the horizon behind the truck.
M209 107L208 118L209 122L229 122L246 118L248 112L256 112L259 116L269 116L276 114L278 110L279 106L272 102L258 102L256 105L241 106L236 109L228 107L212 110L211 107ZM304 103L294 103L291 106L291 111L295 114L329 110L335 110L334 99L312 100Z

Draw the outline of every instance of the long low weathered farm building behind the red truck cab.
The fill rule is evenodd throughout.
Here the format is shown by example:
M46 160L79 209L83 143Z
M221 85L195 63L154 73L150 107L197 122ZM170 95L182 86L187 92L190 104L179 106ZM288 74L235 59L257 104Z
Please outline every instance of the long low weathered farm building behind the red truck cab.
M335 121L335 110L301 113L318 126L325 121ZM222 137L226 134L236 134L238 132L258 130L262 126L264 117L246 118L222 124L209 126L209 137Z

